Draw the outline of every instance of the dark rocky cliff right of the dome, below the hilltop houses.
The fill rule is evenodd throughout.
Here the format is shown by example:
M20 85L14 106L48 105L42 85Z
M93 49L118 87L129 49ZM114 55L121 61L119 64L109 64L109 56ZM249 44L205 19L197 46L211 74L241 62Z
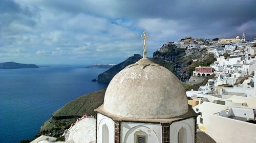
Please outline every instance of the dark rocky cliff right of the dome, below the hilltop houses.
M193 60L197 60L193 62ZM179 79L189 79L197 66L209 66L216 59L203 49L180 49L175 45L163 46L153 54L153 61L165 66ZM171 63L171 64L166 64Z

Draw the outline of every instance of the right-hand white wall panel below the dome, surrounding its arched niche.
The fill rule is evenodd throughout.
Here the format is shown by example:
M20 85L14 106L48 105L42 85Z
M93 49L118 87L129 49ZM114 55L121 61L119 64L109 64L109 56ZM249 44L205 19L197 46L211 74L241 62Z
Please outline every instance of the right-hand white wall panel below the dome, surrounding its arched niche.
M178 142L178 132L181 128L186 129L186 142L195 142L195 119L189 118L179 122L174 122L170 125L170 143Z

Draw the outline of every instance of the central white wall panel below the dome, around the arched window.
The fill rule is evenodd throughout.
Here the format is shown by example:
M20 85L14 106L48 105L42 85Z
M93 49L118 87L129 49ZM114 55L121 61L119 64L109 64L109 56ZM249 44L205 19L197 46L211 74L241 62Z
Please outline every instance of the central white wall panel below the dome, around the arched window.
M122 143L134 142L135 133L138 131L147 134L148 143L162 142L162 126L160 124L151 123L121 123L121 141Z

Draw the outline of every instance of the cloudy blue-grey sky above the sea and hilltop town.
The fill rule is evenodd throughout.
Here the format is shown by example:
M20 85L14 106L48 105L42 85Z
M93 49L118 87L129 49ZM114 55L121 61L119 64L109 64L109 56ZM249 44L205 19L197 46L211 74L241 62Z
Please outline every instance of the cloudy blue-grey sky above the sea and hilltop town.
M118 64L168 41L256 37L255 0L0 0L0 63Z

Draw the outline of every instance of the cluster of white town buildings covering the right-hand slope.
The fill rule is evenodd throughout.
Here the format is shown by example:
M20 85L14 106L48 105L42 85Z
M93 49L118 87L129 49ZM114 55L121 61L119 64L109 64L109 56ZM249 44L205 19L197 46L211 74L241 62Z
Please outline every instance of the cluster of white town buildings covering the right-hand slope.
M246 42L244 34L238 39L231 40L234 43L219 40L226 45L208 47L217 57L208 67L214 69L216 78L198 91L186 92L188 97L198 98L193 109L199 113L199 129L217 142L256 142L252 110L256 108L256 42ZM225 53L229 57L221 56Z

